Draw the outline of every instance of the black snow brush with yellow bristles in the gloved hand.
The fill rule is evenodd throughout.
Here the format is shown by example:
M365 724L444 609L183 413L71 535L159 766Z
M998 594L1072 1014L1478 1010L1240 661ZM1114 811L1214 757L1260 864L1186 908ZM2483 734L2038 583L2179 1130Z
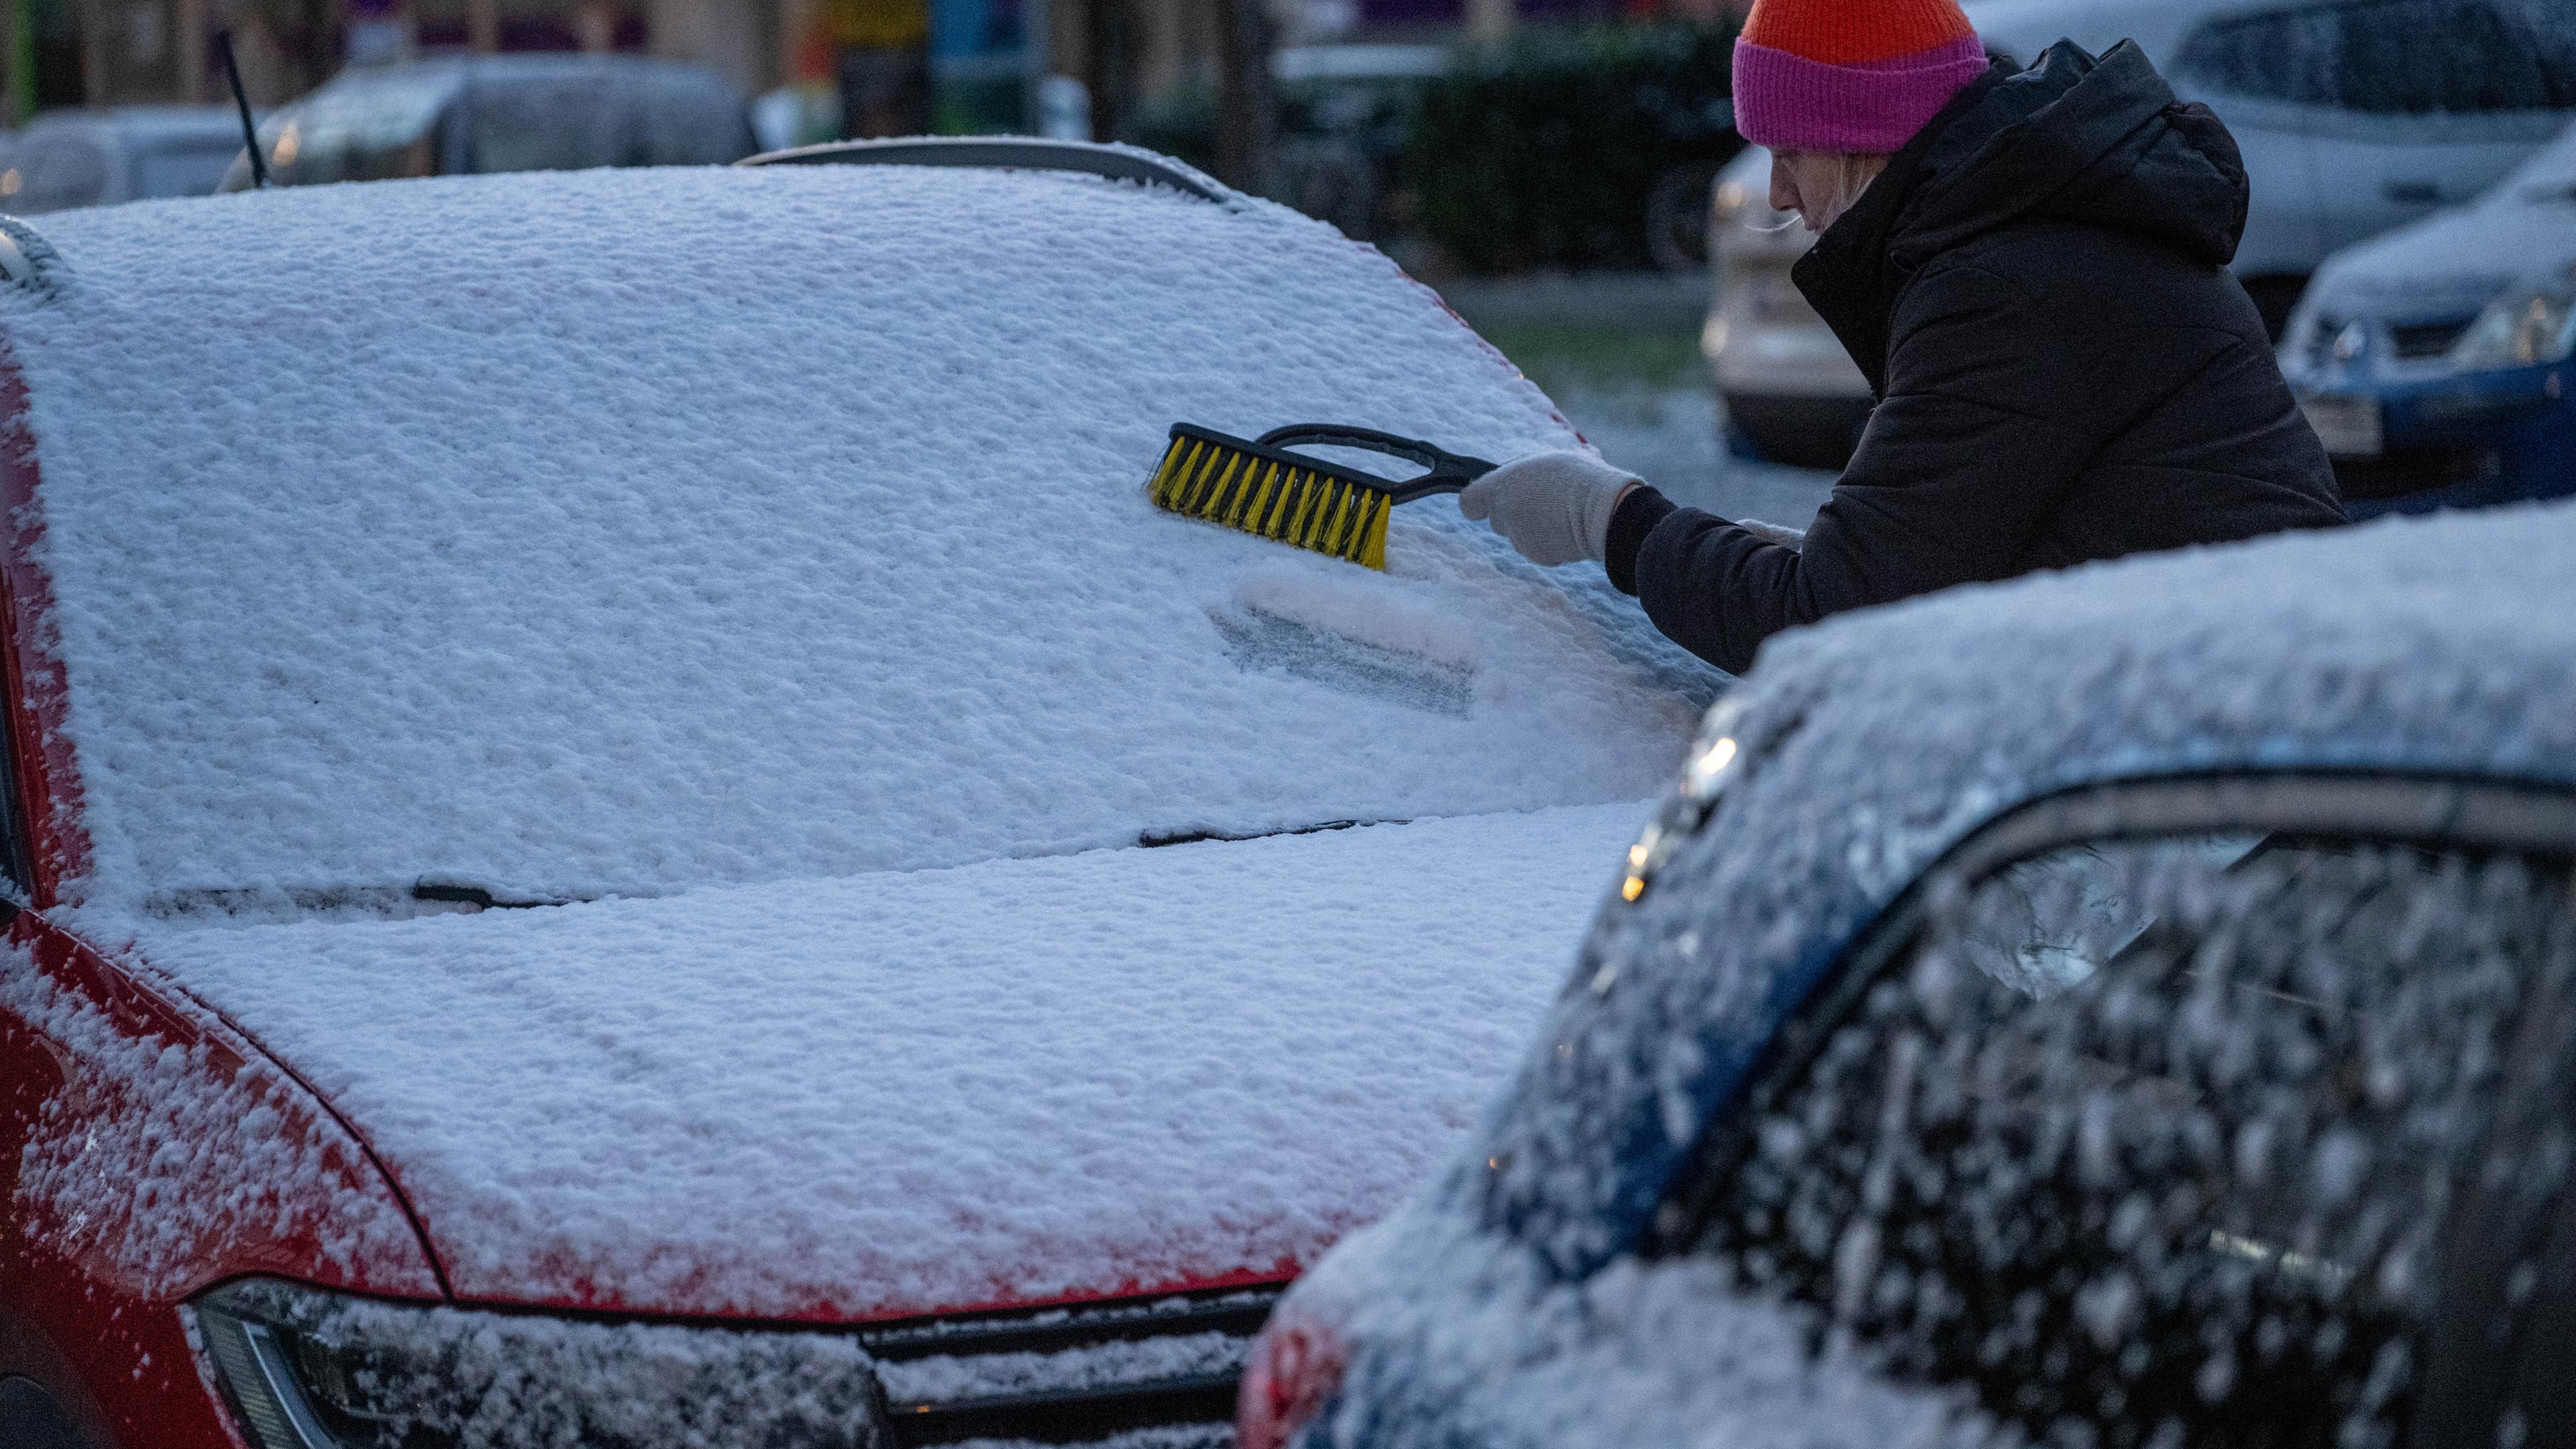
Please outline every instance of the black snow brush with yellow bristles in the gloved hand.
M1291 446L1365 449L1430 472L1388 480L1288 451ZM1484 459L1466 459L1422 438L1399 438L1376 428L1296 423L1270 428L1247 443L1211 428L1175 423L1172 446L1164 449L1149 492L1157 508L1185 518L1224 523L1386 570L1386 516L1396 503L1458 492L1489 472L1494 464Z

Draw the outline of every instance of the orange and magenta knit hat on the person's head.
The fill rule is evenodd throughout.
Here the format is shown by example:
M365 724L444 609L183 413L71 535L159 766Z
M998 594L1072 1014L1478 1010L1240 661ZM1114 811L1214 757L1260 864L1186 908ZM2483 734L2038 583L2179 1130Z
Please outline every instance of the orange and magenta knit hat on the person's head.
M1772 150L1899 152L1978 75L1958 0L1754 0L1736 129Z

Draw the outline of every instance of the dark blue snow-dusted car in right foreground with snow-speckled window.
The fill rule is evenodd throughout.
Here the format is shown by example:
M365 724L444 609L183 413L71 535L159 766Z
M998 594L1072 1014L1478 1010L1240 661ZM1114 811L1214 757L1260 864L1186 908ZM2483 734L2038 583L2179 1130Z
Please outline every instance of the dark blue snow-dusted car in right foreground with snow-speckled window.
M1244 1449L2568 1444L2576 508L1775 642Z

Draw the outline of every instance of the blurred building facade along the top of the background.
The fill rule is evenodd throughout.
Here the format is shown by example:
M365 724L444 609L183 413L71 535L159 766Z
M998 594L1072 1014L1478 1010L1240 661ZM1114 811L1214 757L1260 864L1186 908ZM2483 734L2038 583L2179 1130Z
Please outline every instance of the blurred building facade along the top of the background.
M343 64L580 49L696 59L744 93L801 90L814 98L806 131L1041 129L1048 77L1079 83L1092 98L1082 129L1103 129L1157 95L1218 85L1247 49L1445 44L1728 8L1741 0L0 0L0 93L21 121L54 106L216 101L211 36L229 28L260 106ZM907 90L914 77L927 77L922 93ZM842 106L853 90L866 95Z

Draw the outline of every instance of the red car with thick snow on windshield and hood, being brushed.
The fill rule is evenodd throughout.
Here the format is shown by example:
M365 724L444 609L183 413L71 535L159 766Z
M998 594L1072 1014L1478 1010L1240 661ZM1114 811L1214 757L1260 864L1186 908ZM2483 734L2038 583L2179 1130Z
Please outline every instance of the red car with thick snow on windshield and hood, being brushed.
M1180 418L1574 443L1172 178L10 224L0 1441L1229 1434L1723 681L1157 513Z

